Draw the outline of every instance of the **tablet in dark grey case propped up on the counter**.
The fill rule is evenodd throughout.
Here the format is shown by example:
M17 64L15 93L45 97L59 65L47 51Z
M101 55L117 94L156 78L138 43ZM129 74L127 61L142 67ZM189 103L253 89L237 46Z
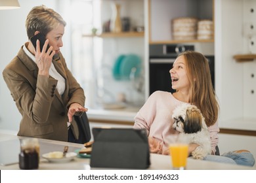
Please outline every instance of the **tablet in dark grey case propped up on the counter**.
M150 166L144 129L93 128L93 137L91 167L147 169Z

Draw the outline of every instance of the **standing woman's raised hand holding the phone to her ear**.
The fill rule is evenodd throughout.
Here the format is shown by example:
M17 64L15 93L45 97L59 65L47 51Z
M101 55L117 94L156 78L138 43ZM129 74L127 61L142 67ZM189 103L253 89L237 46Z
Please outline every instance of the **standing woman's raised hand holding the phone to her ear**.
M47 52L45 52L48 43L49 40L47 39L45 41L45 44L43 45L43 49L40 50L39 40L37 40L37 48L35 50L35 63L38 67L38 75L43 75L47 77L49 77L49 69L51 67L53 56L55 54L55 51L53 51L53 46L50 46Z

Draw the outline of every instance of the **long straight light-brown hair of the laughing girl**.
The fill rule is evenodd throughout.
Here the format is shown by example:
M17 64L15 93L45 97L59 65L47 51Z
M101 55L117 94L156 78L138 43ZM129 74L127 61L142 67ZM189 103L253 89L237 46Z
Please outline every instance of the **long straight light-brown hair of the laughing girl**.
M219 103L213 90L211 73L207 58L194 51L182 52L186 61L186 72L190 82L190 103L200 108L207 126L217 122Z

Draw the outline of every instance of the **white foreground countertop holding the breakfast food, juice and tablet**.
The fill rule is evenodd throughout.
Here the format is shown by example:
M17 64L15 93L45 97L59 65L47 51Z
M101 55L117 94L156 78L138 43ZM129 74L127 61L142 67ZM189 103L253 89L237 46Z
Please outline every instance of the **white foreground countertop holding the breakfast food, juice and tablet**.
M14 156L10 165L0 165L1 170L15 170L19 169L18 166L18 154L20 152L20 139L27 137L19 137L16 135L8 135L0 132L0 144L9 144L9 146L5 146L4 149L1 149L1 158L3 155L6 155L6 152L9 152L7 156ZM63 150L64 146L69 146L69 152L74 151L77 148L83 148L83 144L75 144L70 142L61 142L61 141L51 141L47 139L38 139L40 144L40 154L44 154L47 152L53 152L56 150ZM11 145L12 144L12 145ZM154 170L171 170L171 158L169 156L160 155L160 154L150 154L151 165L148 169ZM90 166L89 158L78 158L75 157L74 160L66 162L66 163L50 163L46 159L41 158L39 163L39 169L45 170L83 170L83 169L93 169ZM102 168L106 169L106 168ZM219 170L253 170L255 167L246 167L241 165L231 165L226 163L217 163L211 161L201 161L192 158L188 158L187 169L219 169Z

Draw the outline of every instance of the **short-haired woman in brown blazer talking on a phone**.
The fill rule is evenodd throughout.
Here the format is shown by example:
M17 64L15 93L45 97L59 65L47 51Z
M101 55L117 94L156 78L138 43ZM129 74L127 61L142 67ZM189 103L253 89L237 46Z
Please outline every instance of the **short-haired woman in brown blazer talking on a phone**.
M22 115L18 135L76 142L78 127L73 116L86 112L83 89L68 70L60 48L66 22L43 5L34 7L26 19L28 39L42 33L47 39L40 49L31 41L5 67L3 78ZM50 48L46 52L47 44ZM71 125L70 125L71 124Z

